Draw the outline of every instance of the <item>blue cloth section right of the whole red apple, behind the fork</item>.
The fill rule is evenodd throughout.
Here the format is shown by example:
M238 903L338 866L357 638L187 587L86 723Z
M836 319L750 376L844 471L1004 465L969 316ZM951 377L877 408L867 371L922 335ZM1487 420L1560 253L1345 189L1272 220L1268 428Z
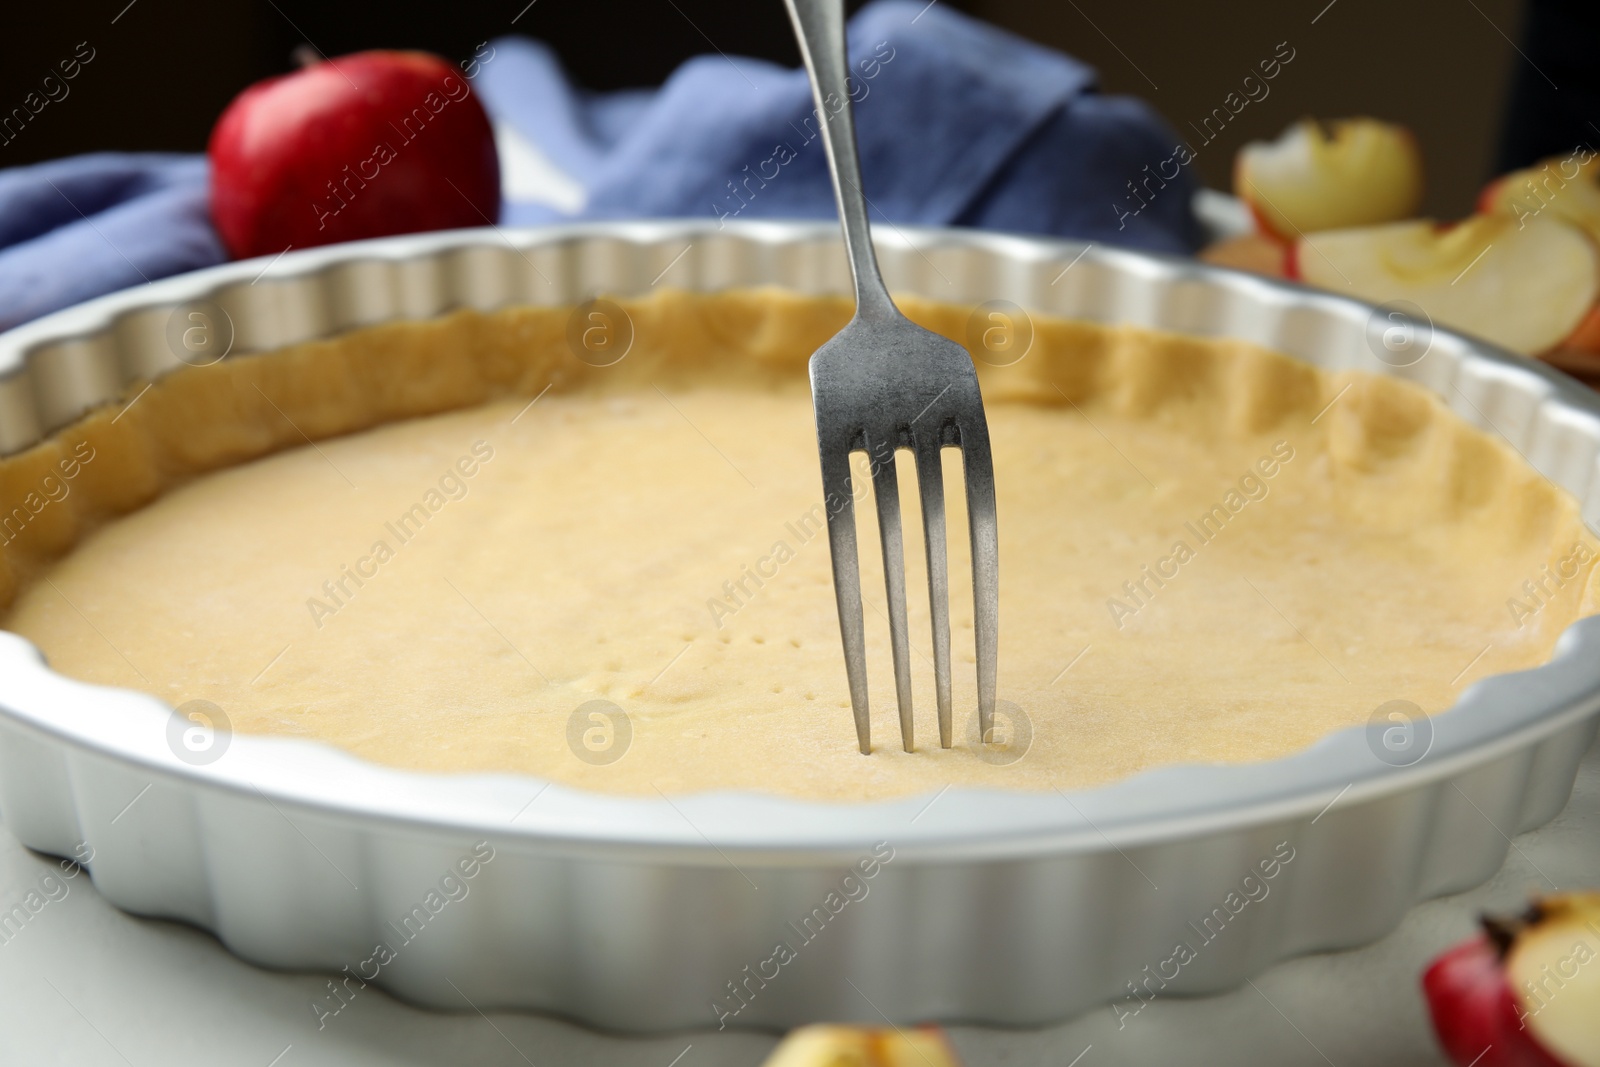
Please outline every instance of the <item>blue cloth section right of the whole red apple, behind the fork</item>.
M802 70L710 54L654 91L586 94L538 42L493 48L478 93L584 186L584 218L835 214ZM1187 173L1154 197L1139 186L1142 211L1130 195L1179 138L1139 101L1099 94L1082 62L914 0L856 14L850 54L875 221L1198 246ZM571 216L509 202L502 221L555 218Z

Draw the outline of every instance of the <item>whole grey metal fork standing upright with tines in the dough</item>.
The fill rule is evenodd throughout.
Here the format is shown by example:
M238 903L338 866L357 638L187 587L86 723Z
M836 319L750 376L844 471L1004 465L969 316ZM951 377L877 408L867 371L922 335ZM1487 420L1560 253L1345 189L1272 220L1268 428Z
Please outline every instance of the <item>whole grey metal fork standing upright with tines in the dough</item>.
M867 715L867 659L861 627L861 568L856 553L856 510L850 454L866 451L872 469L883 542L883 582L894 651L901 742L914 750L910 643L906 633L906 557L901 539L899 483L894 453L909 450L922 491L923 541L928 552L928 598L933 608L933 665L939 699L939 744L950 747L950 595L944 542L944 478L941 450L962 450L966 514L973 549L973 609L978 640L978 726L992 741L995 659L998 656L1000 544L995 530L995 477L989 454L989 422L978 374L963 347L906 318L883 285L850 109L845 11L842 0L786 0L811 75L822 144L827 149L845 250L856 285L856 315L811 357L811 400L816 443L822 456L827 541L834 557L834 595L845 641L845 673L856 715L861 752L872 752Z

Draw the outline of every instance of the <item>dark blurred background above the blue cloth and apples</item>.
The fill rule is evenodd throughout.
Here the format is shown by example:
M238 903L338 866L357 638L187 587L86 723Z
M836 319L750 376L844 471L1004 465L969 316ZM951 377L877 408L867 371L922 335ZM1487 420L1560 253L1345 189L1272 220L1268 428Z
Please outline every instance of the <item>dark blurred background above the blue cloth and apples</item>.
M1270 83L1270 96L1202 149L1202 179L1227 189L1240 144L1302 115L1368 114L1418 133L1429 166L1426 208L1440 216L1469 211L1504 165L1570 147L1560 142L1566 134L1523 120L1502 138L1514 90L1528 107L1565 107L1571 128L1590 117L1592 102L1573 88L1573 69L1600 66L1600 35L1578 34L1562 18L1546 18L1542 34L1536 19L1538 46L1528 45L1522 0L939 2L1091 62L1106 91L1146 98L1184 136L1256 61L1288 42L1296 58ZM1600 11L1600 0L1584 3ZM462 61L502 34L550 42L594 90L658 83L686 56L712 48L798 64L779 0L30 3L8 11L0 29L0 114L78 42L96 58L64 101L0 146L0 166L96 149L200 150L227 101L291 69L290 53L306 40L326 54L424 48ZM1518 45L1538 59L1523 58ZM1568 85L1557 91L1550 82ZM1600 141L1600 131L1594 136Z

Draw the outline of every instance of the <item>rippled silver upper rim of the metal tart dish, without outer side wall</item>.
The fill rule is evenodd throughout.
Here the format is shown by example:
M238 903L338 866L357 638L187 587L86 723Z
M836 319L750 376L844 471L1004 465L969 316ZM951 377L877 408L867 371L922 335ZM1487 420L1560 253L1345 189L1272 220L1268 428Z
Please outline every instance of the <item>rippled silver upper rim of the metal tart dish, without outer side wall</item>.
M1509 440L1541 474L1578 496L1586 517L1600 502L1592 499L1600 496L1600 397L1558 371L1485 342L1438 330L1421 363L1394 368L1366 349L1368 306L1294 285L1187 259L973 230L880 230L875 238L898 291L955 302L1010 299L1062 317L1234 336L1326 370L1402 374L1432 389L1461 418ZM227 264L115 293L0 334L0 381L10 402L0 406L0 446L16 451L42 430L59 429L91 406L112 402L128 381L179 366L163 328L166 314L186 301L213 299L229 309L237 323L234 354L246 354L458 307L491 310L522 302L568 304L600 291L629 294L648 288L686 246L699 246L702 254L685 256L669 272L670 285L848 293L837 229L805 222L466 230L290 253L270 266ZM1062 275L1067 264L1072 269ZM488 275L498 275L494 283ZM18 418L18 406L34 418ZM1502 418L1488 424L1496 414ZM192 768L166 749L168 705L54 675L26 643L6 637L0 645L0 709L152 769L235 789L272 785L283 798L331 809L451 825L499 824L504 814L496 797L510 800L526 792L517 787L515 776L419 774L280 737L234 737L232 758ZM1453 709L1432 718L1432 750L1411 768L1381 763L1365 731L1350 728L1280 760L1166 766L1082 790L1074 795L1078 814L1050 793L968 789L947 790L910 830L906 811L922 809L931 793L859 805L715 793L677 803L691 808L691 816L707 816L702 829L717 830L712 841L718 846L818 848L893 832L896 840L936 846L941 854L1030 853L1067 845L1085 829L1099 840L1090 822L1118 843L1158 840L1242 819L1315 814L1346 787L1346 800L1358 800L1450 774L1592 715L1597 707L1600 617L1568 629L1550 664L1469 688ZM66 709L86 717L59 713ZM518 819L523 832L707 845L659 798L598 797L562 785L552 785L550 793L538 814Z

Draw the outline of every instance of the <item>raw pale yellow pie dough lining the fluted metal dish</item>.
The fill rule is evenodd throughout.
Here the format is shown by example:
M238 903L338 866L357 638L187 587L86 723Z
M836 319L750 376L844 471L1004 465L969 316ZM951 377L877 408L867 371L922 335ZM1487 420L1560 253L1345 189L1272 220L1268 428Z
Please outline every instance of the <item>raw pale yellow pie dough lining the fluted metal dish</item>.
M1387 701L1442 710L1544 662L1595 609L1573 501L1419 389L1035 320L1022 362L981 366L1000 696L1030 747L1008 763L971 744L954 462L957 729L938 747L902 462L917 750L899 747L864 496L866 758L805 381L848 307L773 291L622 304L634 347L610 368L570 354L563 309L462 312L184 370L115 422L120 406L88 416L0 462L10 512L93 450L64 499L0 533L5 625L72 677L381 763L862 800L1280 757ZM965 338L966 309L906 306ZM614 763L568 744L592 699L629 717Z

